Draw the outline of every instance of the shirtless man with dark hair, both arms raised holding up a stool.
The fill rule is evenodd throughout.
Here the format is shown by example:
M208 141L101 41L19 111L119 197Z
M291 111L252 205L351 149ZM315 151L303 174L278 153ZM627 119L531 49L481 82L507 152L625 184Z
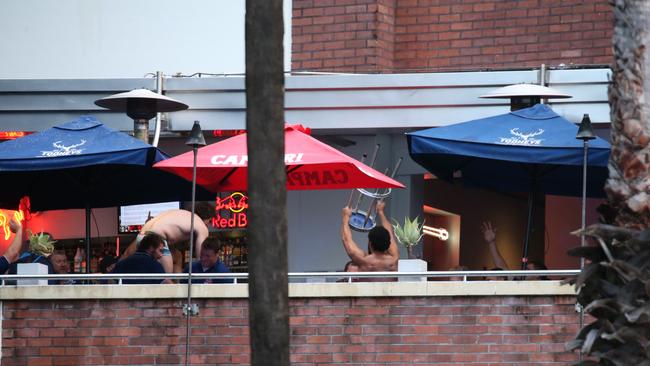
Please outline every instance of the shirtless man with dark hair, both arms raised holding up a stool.
M393 226L384 214L386 203L377 202L377 218L381 226L375 226L368 233L368 247L370 253L366 254L352 239L350 230L350 216L352 209L343 208L343 223L341 225L341 240L348 256L359 267L360 272L387 272L397 271L399 250L393 234Z

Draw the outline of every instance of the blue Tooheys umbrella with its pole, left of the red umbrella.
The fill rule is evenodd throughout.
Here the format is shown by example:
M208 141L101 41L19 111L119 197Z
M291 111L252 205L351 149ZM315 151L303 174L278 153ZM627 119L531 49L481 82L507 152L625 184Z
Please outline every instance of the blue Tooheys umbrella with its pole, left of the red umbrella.
M189 182L152 168L166 158L156 147L83 116L0 143L0 207L16 208L29 196L34 211L85 208L88 247L90 208L190 199ZM213 195L200 190L197 196Z

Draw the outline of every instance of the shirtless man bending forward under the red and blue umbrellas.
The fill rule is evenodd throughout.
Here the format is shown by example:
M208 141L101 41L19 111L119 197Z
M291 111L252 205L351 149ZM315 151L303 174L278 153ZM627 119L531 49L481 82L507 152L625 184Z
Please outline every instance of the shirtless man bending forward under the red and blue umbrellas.
M201 244L208 237L208 223L214 216L214 207L208 203L198 203L195 207L194 216L194 255L199 258L201 255ZM147 232L153 232L163 237L165 245L163 255L158 259L166 273L174 272L174 263L170 246L176 243L190 240L191 213L186 210L167 210L147 221L140 229L136 239L124 252L122 259L135 253L135 250ZM191 258L188 258L191 262Z

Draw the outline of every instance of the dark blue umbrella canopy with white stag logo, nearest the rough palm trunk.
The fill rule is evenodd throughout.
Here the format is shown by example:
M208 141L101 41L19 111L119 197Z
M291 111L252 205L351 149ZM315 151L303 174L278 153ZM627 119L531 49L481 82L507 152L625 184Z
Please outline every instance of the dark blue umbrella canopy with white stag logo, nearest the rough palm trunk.
M493 117L407 134L411 158L440 179L505 192L582 194L578 127L537 104ZM603 197L610 146L589 141L587 195Z

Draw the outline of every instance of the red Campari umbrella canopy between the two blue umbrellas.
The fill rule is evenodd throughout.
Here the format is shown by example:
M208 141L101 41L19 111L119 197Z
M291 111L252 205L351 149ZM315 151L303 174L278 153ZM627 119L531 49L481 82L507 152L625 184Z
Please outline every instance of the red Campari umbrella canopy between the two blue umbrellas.
M404 188L400 182L309 136L301 125L286 125L285 157L288 190ZM193 153L154 165L189 181ZM244 191L248 181L246 135L198 149L196 184L217 191Z

